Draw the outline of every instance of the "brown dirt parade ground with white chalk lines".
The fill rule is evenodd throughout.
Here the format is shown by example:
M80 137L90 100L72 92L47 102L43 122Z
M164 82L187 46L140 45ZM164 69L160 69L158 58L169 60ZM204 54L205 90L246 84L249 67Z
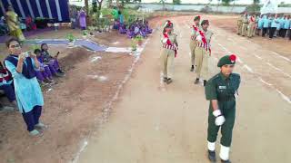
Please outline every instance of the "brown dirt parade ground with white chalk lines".
M287 153L291 134L291 50L286 48L290 42L237 36L231 25L236 24L234 15L202 17L211 21L210 30L215 33L214 58L226 53L239 57L236 72L241 74L242 84L231 159L242 163L291 162ZM165 19L156 18L151 24L156 27ZM66 76L58 79L52 91L44 93L42 120L49 128L42 137L31 138L19 113L1 112L0 162L207 162L208 102L204 88L193 84L195 73L189 72L192 19L171 18L180 44L171 85L165 85L160 78L161 28L149 38L139 61L125 53L91 53L52 46L52 53L61 51ZM219 20L229 24L220 24ZM42 37L62 38L67 32ZM115 33L96 34L92 39L110 46L126 47L130 43ZM0 48L5 49L3 45ZM91 62L97 56L101 59ZM118 95L121 84L125 87Z

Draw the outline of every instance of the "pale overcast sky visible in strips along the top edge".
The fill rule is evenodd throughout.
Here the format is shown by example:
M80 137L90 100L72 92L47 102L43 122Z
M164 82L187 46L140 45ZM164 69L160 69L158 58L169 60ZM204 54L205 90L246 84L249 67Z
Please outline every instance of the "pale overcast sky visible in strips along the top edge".
M77 3L78 0L69 0L70 4L74 5L84 5L84 0L81 3ZM90 0L89 0L90 1ZM207 0L181 0L182 4L205 4L208 2ZM265 2L266 0L261 0L262 2ZM153 3L153 2L159 2L159 0L142 0L143 3ZM172 3L173 0L166 0L168 3ZM236 4L252 4L253 0L236 0ZM277 0L278 4L280 2L285 2L285 4L291 4L291 0ZM213 0L213 4L216 4L217 0Z

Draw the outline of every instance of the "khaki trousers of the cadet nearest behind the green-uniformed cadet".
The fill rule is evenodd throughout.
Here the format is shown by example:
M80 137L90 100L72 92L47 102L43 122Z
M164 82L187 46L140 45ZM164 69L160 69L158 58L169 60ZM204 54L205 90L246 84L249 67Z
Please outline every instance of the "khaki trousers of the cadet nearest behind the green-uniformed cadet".
M196 47L195 49L195 62L196 62L196 78L208 79L208 60L209 52L206 52L206 49L203 47Z

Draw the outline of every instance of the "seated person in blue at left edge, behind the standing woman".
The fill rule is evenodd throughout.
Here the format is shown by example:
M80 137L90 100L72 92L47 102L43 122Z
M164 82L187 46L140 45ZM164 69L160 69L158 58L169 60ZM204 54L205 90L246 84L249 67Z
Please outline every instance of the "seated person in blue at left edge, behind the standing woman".
M17 109L17 103L15 98L15 87L13 85L12 75L0 62L0 90L5 91L5 95L8 100L13 103L13 107Z

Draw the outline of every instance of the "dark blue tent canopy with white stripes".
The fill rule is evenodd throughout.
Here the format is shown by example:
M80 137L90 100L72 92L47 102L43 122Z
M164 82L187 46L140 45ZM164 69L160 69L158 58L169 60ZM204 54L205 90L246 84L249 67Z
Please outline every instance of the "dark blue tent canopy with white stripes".
M68 0L0 0L0 16L12 5L19 17L42 17L55 22L70 22Z

